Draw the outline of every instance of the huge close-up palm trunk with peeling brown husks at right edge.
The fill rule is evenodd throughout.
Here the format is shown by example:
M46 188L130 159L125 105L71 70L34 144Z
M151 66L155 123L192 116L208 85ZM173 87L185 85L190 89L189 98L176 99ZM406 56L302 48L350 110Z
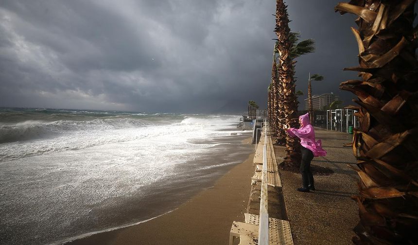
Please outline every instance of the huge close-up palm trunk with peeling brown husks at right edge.
M360 222L355 244L418 244L418 61L415 0L351 0L341 14L359 46L361 80L340 88L358 98L360 127L353 136L360 176Z

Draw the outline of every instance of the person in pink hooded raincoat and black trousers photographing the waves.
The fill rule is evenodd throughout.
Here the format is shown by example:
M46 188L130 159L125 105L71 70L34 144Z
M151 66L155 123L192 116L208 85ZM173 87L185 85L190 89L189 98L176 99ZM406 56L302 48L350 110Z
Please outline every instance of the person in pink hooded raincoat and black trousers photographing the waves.
M327 155L327 152L322 149L321 140L315 141L315 130L309 120L309 114L306 113L299 117L299 129L291 128L289 125L283 125L283 129L290 137L300 138L302 159L300 161L300 173L302 174L302 188L297 188L299 192L315 191L313 185L313 174L311 172L311 160L313 157L320 157Z

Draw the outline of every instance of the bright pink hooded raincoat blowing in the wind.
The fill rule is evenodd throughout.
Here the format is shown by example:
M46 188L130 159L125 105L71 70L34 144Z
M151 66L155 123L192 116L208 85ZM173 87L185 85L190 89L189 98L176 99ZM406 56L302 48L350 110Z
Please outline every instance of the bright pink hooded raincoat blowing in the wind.
M314 157L320 157L327 155L327 152L322 149L322 142L321 140L315 141L315 131L313 130L313 126L311 125L311 121L309 120L309 114L306 113L299 117L302 121L302 127L297 128L289 128L287 133L291 137L299 137L300 144L311 150Z

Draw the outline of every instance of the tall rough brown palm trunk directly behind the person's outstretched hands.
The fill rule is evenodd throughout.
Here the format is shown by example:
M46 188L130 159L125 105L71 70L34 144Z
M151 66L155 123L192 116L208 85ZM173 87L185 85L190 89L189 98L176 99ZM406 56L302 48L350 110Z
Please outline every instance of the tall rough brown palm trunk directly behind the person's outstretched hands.
M289 56L291 42L289 41L289 18L287 15L287 6L283 0L276 0L276 28L275 32L278 37L278 50L280 54L279 81L283 84L285 110L285 122L291 127L298 127L297 117L297 97L295 94L295 83L293 80L292 60ZM300 165L300 144L295 138L286 136L286 152L285 166L296 170Z

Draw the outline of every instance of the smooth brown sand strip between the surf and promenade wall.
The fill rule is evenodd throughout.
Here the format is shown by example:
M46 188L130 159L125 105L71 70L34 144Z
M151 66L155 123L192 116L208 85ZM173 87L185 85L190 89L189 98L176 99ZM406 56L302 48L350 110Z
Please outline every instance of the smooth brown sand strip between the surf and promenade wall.
M250 143L249 139L243 143ZM177 209L133 226L104 231L66 245L227 244L232 221L243 221L254 152Z

